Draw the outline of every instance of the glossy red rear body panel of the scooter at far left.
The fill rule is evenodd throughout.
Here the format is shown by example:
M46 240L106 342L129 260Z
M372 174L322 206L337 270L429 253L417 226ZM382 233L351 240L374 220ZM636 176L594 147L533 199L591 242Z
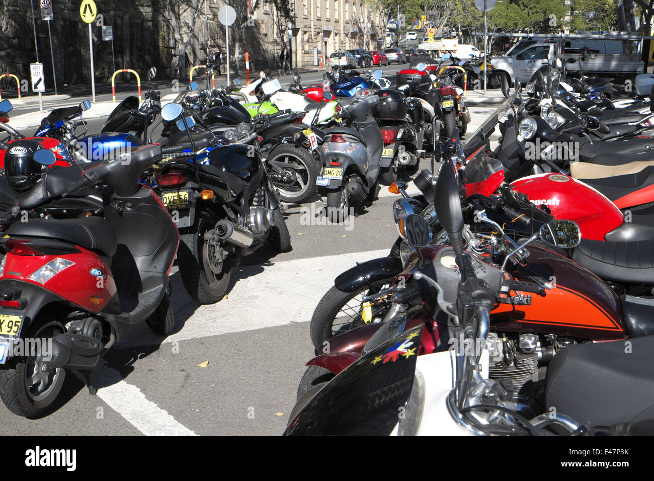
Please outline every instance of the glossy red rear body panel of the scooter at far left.
M20 242L18 239L14 241ZM3 281L18 280L43 287L63 300L88 312L97 314L116 294L116 283L107 264L97 254L76 246L79 253L61 253L60 255L16 255L7 253ZM29 279L29 276L48 262L62 258L75 262L50 277L44 283ZM5 282L6 283L6 282ZM75 286L75 289L71 289Z

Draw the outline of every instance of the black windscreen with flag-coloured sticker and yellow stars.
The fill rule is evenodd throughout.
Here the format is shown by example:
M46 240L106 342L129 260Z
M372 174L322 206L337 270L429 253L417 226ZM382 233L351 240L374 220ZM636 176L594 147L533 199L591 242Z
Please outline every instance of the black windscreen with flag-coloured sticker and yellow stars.
M284 436L388 436L413 387L422 325L387 340L326 384L309 391L292 412ZM411 354L400 354L398 347Z

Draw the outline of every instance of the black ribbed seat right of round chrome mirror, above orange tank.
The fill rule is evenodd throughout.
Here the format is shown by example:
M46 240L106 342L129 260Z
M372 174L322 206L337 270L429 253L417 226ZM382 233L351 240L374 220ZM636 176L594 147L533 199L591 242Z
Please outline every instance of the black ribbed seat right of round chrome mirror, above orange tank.
M654 240L584 239L572 252L572 259L602 279L654 285Z

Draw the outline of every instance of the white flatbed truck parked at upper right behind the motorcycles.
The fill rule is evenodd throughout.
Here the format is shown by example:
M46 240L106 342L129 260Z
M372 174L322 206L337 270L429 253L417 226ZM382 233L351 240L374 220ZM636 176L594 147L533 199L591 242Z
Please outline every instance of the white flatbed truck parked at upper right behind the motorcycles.
M566 62L571 57L577 62L566 65L570 72L578 71L583 66L584 73L610 75L616 80L634 79L643 73L645 66L641 60L640 45L633 46L634 53L625 52L623 45L623 41L613 39L539 41L527 44L520 51L511 49L508 52L510 55L492 58L490 63L496 72L506 73L511 82L515 79L528 82L538 69L552 65L555 58ZM583 61L580 63L581 58Z

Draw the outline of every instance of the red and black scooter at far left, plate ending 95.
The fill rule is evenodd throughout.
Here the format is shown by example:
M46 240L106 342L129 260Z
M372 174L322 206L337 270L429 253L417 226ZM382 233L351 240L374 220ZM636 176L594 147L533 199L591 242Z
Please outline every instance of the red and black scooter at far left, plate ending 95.
M14 194L16 205L0 218L0 397L14 414L43 413L69 369L95 393L90 370L141 322L163 336L173 330L168 273L179 234L139 177L177 150L147 145L92 162L74 181L75 167L54 167ZM56 162L48 149L33 160ZM24 209L82 189L101 192L103 217L16 221Z

